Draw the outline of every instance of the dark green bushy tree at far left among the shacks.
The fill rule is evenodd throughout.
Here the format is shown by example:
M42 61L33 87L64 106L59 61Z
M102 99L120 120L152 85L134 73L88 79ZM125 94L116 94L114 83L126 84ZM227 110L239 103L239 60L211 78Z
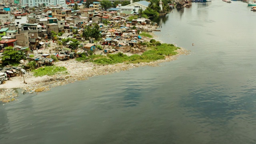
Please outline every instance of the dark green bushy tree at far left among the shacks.
M26 54L22 51L14 50L12 46L6 47L6 50L3 52L2 62L4 65L15 65L19 64L19 61L24 59L26 60Z

